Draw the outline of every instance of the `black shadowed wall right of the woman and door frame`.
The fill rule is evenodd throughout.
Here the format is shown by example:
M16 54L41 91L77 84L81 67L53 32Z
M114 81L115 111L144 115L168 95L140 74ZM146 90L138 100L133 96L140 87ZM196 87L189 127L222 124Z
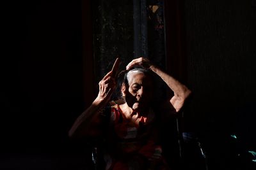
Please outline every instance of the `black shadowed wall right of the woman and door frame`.
M255 1L183 1L182 9L193 91L184 131L197 133L209 169L250 169L241 157L256 150Z

